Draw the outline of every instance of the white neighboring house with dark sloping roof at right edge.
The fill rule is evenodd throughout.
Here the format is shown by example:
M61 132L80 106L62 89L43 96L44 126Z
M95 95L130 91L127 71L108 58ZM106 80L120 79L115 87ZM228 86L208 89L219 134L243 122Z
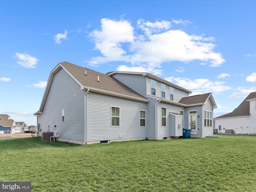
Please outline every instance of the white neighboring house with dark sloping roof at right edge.
M214 118L215 132L256 134L256 92L250 93L231 113Z

